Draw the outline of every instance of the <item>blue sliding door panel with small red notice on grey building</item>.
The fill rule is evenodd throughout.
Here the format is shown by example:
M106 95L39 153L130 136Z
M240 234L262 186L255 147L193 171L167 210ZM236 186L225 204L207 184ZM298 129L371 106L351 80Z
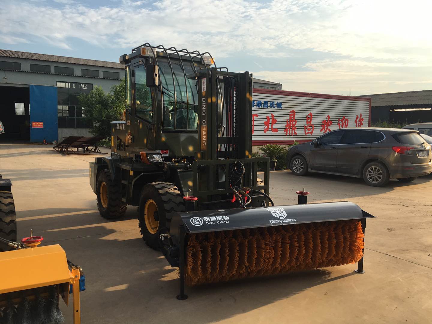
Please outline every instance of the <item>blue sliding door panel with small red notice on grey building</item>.
M44 127L32 127L37 122L43 122ZM30 142L42 143L45 139L52 143L57 133L57 87L30 86Z

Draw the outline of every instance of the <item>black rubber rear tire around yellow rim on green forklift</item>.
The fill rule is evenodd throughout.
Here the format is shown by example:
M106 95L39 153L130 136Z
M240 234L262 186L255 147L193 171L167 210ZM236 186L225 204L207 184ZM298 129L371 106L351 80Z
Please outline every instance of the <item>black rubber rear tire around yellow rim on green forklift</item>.
M105 182L108 188L108 205L106 208L102 206L100 197L100 187L102 181ZM98 210L101 216L105 219L117 219L124 216L126 213L126 203L121 201L120 187L112 180L109 170L102 170L98 176L96 184L96 200L98 201Z

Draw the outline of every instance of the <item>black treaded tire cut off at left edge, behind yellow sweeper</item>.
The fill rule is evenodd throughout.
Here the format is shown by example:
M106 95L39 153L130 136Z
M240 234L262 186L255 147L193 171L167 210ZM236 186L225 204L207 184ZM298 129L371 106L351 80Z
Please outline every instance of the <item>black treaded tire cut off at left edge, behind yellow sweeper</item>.
M16 213L10 191L0 191L0 237L16 242ZM0 242L0 252L15 250Z

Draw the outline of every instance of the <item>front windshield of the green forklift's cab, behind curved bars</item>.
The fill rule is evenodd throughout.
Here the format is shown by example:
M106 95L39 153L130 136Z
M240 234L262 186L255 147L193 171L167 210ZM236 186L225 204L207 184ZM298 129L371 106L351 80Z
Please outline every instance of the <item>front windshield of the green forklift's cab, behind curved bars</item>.
M187 79L194 73L192 63L172 60L172 70L167 61L158 62L163 91L163 128L196 130L198 125L197 81Z

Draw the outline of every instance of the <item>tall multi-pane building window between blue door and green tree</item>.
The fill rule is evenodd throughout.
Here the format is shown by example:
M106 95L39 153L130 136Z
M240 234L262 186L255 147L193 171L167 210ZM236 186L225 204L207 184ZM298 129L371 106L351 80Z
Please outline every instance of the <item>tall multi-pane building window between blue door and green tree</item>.
M78 96L92 91L91 83L57 81L57 117L59 128L90 128L84 119Z

